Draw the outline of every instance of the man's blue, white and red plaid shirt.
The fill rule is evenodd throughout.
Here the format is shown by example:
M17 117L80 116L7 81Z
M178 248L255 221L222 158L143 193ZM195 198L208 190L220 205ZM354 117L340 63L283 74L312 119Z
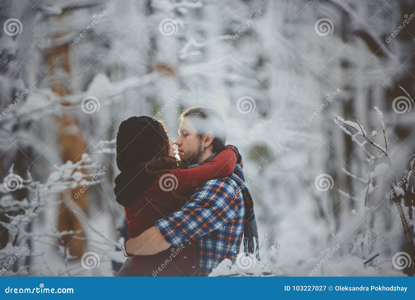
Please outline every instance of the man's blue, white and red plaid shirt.
M189 168L194 166L199 165ZM225 177L205 182L186 205L157 221L156 227L172 246L197 239L198 269L195 274L207 276L222 260L234 261L236 258L242 242L244 219L242 193L233 179Z

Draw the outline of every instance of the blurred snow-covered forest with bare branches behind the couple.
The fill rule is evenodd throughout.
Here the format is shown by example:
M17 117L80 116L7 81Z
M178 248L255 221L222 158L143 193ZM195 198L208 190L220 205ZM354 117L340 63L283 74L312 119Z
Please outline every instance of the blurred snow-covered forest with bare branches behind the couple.
M0 276L113 276L118 126L156 116L174 140L191 106L225 118L261 236L261 261L212 275L413 276L413 19L412 0L2 0Z

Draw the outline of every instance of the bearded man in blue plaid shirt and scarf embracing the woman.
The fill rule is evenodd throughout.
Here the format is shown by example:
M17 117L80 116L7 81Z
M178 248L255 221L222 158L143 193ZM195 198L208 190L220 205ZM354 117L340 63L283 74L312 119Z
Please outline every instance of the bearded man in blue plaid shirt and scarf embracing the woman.
M215 110L195 107L184 111L175 144L189 168L213 159L226 141L225 121ZM156 222L125 243L134 255L153 255L195 240L198 266L195 274L207 276L223 259L234 261L244 235L245 252L258 250L258 233L252 198L243 183L242 158L235 173L209 180L195 191L180 210ZM259 258L259 257L258 257Z

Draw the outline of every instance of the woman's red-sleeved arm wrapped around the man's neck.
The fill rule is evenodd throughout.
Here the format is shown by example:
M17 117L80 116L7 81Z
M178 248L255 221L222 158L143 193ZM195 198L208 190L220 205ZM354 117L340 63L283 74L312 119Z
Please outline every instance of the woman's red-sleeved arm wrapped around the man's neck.
M171 170L177 178L176 193L183 194L198 188L211 179L219 179L228 176L234 171L238 151L233 146L225 146L214 159L189 169Z

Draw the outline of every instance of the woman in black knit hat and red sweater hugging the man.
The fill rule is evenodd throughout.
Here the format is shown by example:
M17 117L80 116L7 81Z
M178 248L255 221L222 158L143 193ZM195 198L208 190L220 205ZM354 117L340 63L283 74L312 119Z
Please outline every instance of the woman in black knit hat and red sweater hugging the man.
M117 134L115 178L117 202L125 207L127 234L137 237L163 217L183 206L186 195L204 182L228 176L237 151L226 146L215 159L187 169L175 158L173 141L164 124L148 116L130 117ZM133 256L118 276L192 276L197 270L195 243L167 249L156 255ZM166 263L168 262L168 263Z

